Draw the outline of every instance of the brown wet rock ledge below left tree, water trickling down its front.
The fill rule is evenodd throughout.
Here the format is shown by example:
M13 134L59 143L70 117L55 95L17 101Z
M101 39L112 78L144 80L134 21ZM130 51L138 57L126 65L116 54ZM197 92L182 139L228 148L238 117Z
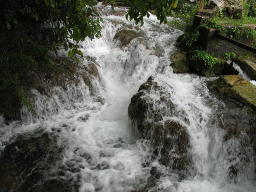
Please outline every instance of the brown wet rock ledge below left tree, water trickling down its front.
M83 58L79 58L80 62ZM51 71L45 74L36 74L28 79L28 89L35 88L43 95L47 95L50 90L59 86L63 90L67 89L67 85L74 84L75 86L80 83L79 76L82 76L85 84L91 88L93 78L99 76L97 66L95 64L95 58L86 58L89 62L88 66L79 65L76 63L76 57L61 57L53 59L53 62L57 66L55 71Z

